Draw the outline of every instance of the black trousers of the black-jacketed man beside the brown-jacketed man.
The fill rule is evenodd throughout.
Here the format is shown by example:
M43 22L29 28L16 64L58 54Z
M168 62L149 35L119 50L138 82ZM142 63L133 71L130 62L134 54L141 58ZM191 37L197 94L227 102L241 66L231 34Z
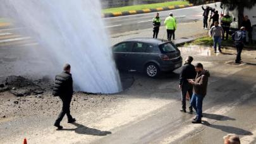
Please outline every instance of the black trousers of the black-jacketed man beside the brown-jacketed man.
M193 86L190 85L189 83L184 83L181 86L181 104L182 104L182 109L186 109L186 93L187 92L190 95L190 100L191 100L192 99L192 95L193 95ZM190 105L189 108L192 109L192 106Z

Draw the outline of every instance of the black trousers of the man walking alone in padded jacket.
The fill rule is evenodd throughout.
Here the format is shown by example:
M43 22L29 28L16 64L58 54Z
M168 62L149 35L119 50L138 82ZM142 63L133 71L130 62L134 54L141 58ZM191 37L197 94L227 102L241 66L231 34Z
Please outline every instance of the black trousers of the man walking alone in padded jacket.
M63 105L62 105L61 113L59 114L55 122L56 124L61 123L65 114L68 117L68 120L73 119L73 117L70 115L70 103L71 103L72 96L69 96L69 97L63 96L59 98L61 99Z

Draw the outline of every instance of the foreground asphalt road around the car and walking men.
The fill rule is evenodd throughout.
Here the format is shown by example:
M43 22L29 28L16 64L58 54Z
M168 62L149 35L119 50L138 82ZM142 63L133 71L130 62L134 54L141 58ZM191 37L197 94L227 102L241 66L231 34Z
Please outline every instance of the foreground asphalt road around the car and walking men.
M112 40L114 39L119 38ZM36 47L1 47L1 69L14 71L15 64L25 61L40 67L46 59L34 61L37 55L28 59L25 54L26 51L34 51ZM210 47L186 46L180 47L180 50L183 57L193 56L193 63L203 63L205 69L210 71L208 94L203 105L203 124L191 124L195 114L179 111L179 69L157 79L150 79L139 73L128 73L135 81L128 90L114 95L119 97L114 104L74 113L77 123L82 124L78 129L74 130L72 126L64 124L65 128L70 129L55 131L51 125L56 116L0 118L0 131L4 133L0 136L0 143L19 143L22 138L27 137L30 143L208 144L222 143L222 136L227 133L240 135L242 143L253 143L256 138L255 51L243 51L244 63L236 65L233 64L236 52L232 47L225 48L223 54L214 54ZM15 56L19 57L14 58ZM3 61L7 65L3 65ZM14 74L18 75L18 71ZM111 135L95 136L99 130L111 131Z

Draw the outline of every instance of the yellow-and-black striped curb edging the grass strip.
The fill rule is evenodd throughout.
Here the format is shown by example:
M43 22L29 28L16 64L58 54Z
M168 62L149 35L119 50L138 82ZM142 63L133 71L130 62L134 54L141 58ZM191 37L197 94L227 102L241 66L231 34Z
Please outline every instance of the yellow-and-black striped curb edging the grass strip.
M116 12L116 13L105 13L102 15L103 18L111 18L111 17L117 17L117 16L128 16L128 15L137 15L137 14L143 14L143 13L152 13L157 11L168 11L173 9L180 9L180 8L188 8L194 6L193 4L184 4L184 5L178 5L178 6L168 6L163 8L156 8L156 9L142 9L137 11L123 11L123 12Z

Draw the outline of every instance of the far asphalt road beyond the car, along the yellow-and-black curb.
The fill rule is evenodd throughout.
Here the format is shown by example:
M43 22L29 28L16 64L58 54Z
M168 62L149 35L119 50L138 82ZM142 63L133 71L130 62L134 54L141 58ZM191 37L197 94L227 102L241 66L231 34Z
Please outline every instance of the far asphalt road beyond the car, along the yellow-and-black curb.
M216 8L219 13L221 8L219 8L220 3L209 4L210 7ZM162 20L162 25L164 25L164 20L172 12L177 18L178 23L198 21L202 20L202 8L201 6L193 6L191 8L174 9L171 11L161 11L159 15ZM112 33L122 33L130 32L132 30L143 30L145 28L152 27L152 18L154 18L155 13L147 13L142 15L131 15L131 16L119 16L114 18L104 18L106 23L106 28Z

